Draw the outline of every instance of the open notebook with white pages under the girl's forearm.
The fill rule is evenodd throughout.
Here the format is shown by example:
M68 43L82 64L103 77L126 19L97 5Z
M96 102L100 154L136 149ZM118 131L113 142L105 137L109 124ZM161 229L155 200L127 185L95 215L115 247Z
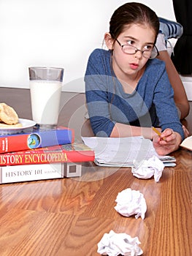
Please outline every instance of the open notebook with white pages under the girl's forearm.
M141 162L156 156L164 166L173 167L176 159L171 156L158 156L151 140L142 136L127 138L82 137L85 145L95 151L96 165L131 167L134 161Z

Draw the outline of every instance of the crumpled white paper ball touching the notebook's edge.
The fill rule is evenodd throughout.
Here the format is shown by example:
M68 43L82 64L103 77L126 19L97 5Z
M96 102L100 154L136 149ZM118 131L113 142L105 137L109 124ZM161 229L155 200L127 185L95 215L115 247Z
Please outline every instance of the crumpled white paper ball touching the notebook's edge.
M137 178L151 178L154 176L155 182L158 182L162 176L164 170L164 163L158 159L158 157L151 157L148 160L142 162L134 162L134 166L131 167L131 173Z

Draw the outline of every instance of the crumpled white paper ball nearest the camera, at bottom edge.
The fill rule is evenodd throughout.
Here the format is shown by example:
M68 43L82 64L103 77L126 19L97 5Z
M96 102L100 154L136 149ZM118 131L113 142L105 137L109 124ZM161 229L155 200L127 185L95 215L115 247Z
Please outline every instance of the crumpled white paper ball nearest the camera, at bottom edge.
M137 256L142 255L142 249L139 248L139 239L131 238L126 233L115 233L110 230L110 233L105 233L98 244L97 252L100 255L118 256Z

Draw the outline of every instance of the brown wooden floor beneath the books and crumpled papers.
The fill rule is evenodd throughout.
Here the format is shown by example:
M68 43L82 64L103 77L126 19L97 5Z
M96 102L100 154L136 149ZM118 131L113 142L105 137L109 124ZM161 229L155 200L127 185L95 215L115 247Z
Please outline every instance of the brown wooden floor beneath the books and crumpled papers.
M62 95L59 123L91 135L85 122L84 94ZM14 99L14 100L13 100ZM0 89L0 102L31 118L28 90ZM191 130L192 118L187 119ZM84 135L85 135L84 134ZM1 256L94 256L104 233L138 236L144 256L192 255L192 153L174 153L176 167L166 167L158 183L142 180L130 168L82 167L82 177L0 186ZM118 192L139 190L145 219L115 211Z

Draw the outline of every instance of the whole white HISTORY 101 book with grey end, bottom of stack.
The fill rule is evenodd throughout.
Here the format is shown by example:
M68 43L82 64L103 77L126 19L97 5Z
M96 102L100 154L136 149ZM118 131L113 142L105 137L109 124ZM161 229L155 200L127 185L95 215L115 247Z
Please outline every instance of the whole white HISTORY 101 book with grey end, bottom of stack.
M45 165L12 165L0 167L0 184L72 178L82 175L82 163L60 162Z

